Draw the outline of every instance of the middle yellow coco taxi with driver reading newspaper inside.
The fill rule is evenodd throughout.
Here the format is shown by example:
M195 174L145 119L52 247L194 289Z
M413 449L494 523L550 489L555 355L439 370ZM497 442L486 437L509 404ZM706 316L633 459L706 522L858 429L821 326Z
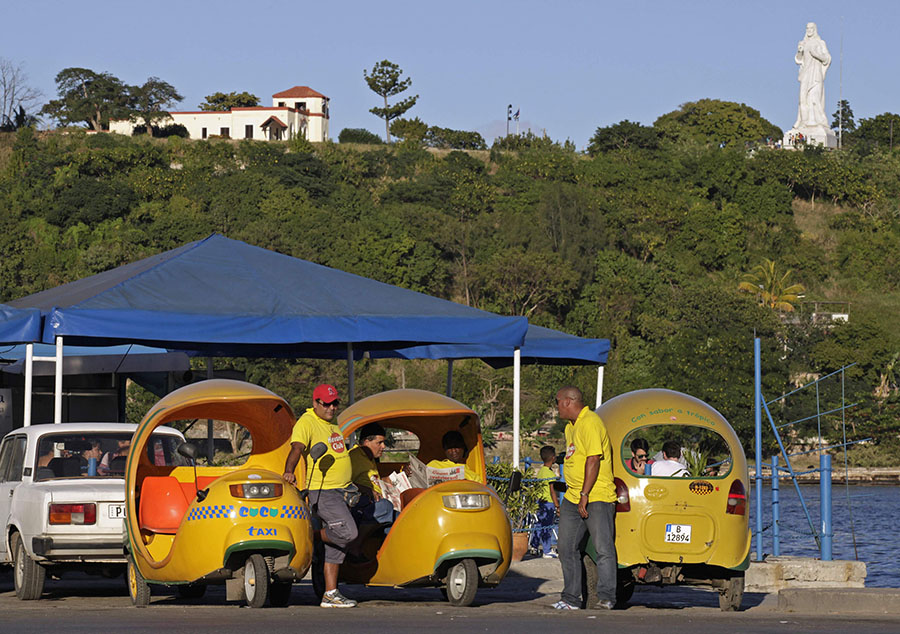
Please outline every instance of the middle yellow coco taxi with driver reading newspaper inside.
M459 431L469 450L467 471L477 481L454 480L402 495L387 536L363 544L368 564L341 566L341 580L370 586L441 588L453 605L470 605L479 586L493 587L509 569L512 531L506 507L486 486L478 415L458 401L423 390L393 390L365 398L338 416L345 437L379 423L393 444L378 465L382 479L399 472L406 447L424 463L443 460L441 439ZM391 462L390 460L394 460ZM314 582L317 567L313 567Z

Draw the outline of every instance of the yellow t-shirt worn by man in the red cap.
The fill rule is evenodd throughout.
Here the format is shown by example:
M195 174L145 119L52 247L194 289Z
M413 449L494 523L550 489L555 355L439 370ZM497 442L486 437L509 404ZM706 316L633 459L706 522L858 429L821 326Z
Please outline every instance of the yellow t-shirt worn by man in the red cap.
M307 488L343 489L350 485L352 467L350 452L337 425L319 418L313 408L309 408L294 424L291 442L301 442L306 447ZM324 442L328 452L316 462L316 470L312 471L312 459L309 450L317 442ZM323 477L324 474L324 477Z

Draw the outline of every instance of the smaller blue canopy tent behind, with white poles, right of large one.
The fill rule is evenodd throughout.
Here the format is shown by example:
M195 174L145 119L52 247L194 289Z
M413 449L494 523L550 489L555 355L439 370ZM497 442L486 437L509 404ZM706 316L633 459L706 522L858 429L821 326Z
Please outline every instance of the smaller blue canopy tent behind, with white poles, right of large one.
M375 351L373 357L401 359L448 359L447 392L453 381L453 359L481 359L494 368L514 366L513 377L513 464L519 464L519 396L520 363L545 365L597 364L597 407L603 398L603 367L609 356L609 339L585 339L552 328L529 324L525 343L510 352L508 348L491 344L432 344L410 346L390 351Z

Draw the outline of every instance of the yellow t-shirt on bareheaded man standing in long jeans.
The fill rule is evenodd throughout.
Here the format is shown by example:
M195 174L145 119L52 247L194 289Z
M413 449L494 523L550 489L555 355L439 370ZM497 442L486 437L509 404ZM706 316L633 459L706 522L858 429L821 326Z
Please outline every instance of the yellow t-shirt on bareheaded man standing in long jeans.
M563 473L566 476L565 498L578 504L581 486L584 484L584 464L588 456L600 456L597 481L588 494L590 502L615 502L616 485L612 475L612 445L606 426L596 413L585 407L574 423L566 425L566 460Z

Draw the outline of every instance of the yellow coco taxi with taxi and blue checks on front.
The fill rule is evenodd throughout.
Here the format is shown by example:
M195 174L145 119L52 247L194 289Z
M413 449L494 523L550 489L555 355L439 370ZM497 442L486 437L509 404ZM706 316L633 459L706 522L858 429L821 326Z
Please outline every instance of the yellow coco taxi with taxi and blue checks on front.
M150 459L154 429L202 419L249 432L243 464L192 465L191 445L179 448L180 462ZM125 476L127 581L135 605L149 603L148 584L197 598L216 583L225 583L228 600L251 607L288 603L292 582L312 561L309 508L281 479L293 425L284 400L241 381L194 383L150 409L132 439Z

